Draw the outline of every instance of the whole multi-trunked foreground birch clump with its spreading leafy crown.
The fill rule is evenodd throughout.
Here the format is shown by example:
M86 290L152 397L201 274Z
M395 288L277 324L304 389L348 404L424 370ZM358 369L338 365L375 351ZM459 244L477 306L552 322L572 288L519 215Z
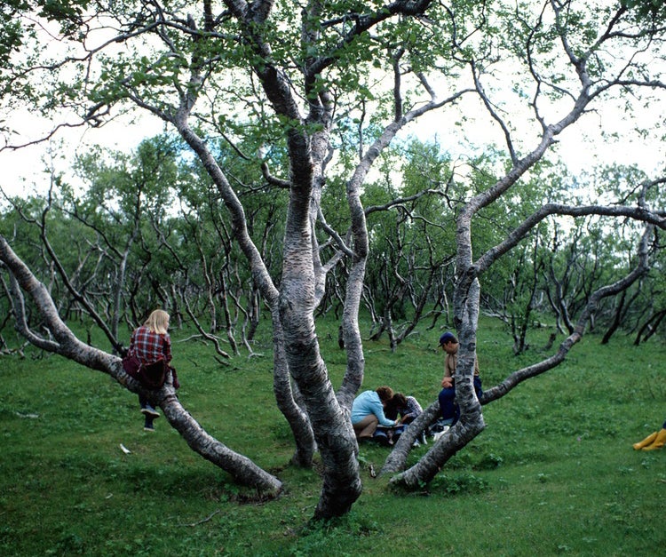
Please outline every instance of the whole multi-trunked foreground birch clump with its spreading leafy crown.
M605 102L614 102L614 91L629 92L641 100L662 94L660 65L653 63L662 62L664 55L661 5L600 1L591 7L576 0L517 4L311 0L298 6L267 0L111 4L38 0L10 4L3 14L28 8L43 19L57 21L56 34L74 49L59 60L41 65L28 60L28 66L21 60L18 67L5 71L5 104L25 99L47 109L67 107L79 116L75 123L92 126L119 111L139 109L177 131L218 188L234 240L270 308L274 392L294 433L294 460L309 465L314 450L321 453L324 472L317 518L346 513L361 494L358 447L349 420L364 366L358 314L369 238L361 190L377 157L400 131L424 115L436 114L440 129L452 132L456 124L464 130L472 120L480 120L488 138L493 134L498 138L498 145L490 147L502 154L502 165L488 187L467 188L464 198L454 203L453 314L461 340L456 396L462 416L420 463L394 478L396 484L430 481L456 450L483 430L480 402L490 402L521 380L561 362L583 335L599 298L626 288L645 273L647 239L653 227L664 227L663 211L651 204L654 185L660 183L657 178L652 185L636 187L634 195L622 203L544 202L499 243L479 256L472 251L474 227L482 211L500 198L511 198L519 207L528 172L553 149L563 131L580 125L583 116ZM11 18L5 23L14 29ZM12 45L13 36L8 37L7 44ZM42 74L44 68L48 72ZM76 72L76 78L68 72ZM37 99L35 88L28 86L36 75L50 85L45 99ZM9 99L11 90L18 94ZM633 102L630 96L622 98L628 107ZM348 131L350 123L359 130L358 156L337 180L345 185L338 196L345 199L348 213L347 228L337 230L329 226L322 211L321 195L336 168L334 139L348 137L342 130ZM250 157L266 182L288 195L279 282L268 272L247 227L233 177L211 149L212 138L237 147L240 136L257 139L256 153ZM478 148L464 135L453 133L453 137L452 147ZM286 151L286 163L274 158L271 147L276 145ZM466 183L464 173L458 180ZM591 295L574 332L557 354L529 370L517 371L489 388L482 401L477 400L472 370L484 275L543 219L591 214L646 223L646 233L636 241L635 267ZM321 255L324 240L335 246L329 259ZM39 292L34 277L13 258L11 248L6 243L0 247L0 259L16 285ZM342 259L348 270L342 315L347 366L336 389L320 354L314 312L324 294L326 275ZM18 288L14 293L18 304L14 310L20 318ZM59 331L59 346L30 337L24 328L28 338L124 381L118 362L76 345L50 309L48 298L39 296L36 303ZM174 425L180 424L176 418L182 415L170 406L176 402L169 387L165 389L157 402L163 404L167 418L174 417ZM432 405L424 420L436 411ZM194 425L177 427L184 433ZM403 437L396 450L406 454L408 435ZM400 467L400 462L392 462L385 469ZM254 472L258 485L279 489L276 481Z

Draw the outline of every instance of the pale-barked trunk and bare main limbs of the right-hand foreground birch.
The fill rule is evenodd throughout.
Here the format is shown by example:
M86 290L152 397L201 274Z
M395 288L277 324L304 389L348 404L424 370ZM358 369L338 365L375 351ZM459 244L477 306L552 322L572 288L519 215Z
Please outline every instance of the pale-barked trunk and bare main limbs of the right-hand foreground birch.
M545 152L555 142L559 134L566 130L567 127L576 123L579 118L589 109L592 101L597 99L603 92L614 86L645 86L649 85L640 80L625 80L622 76L622 70L617 76L607 76L607 79L599 78L595 83L588 72L588 62L605 41L608 41L613 36L613 26L617 24L619 18L607 28L606 33L599 36L599 40L591 44L590 50L579 52L570 43L567 36L567 25L564 20L563 8L559 4L551 4L556 18L558 18L558 30L560 33L561 48L565 53L567 60L575 73L578 80L577 92L571 93L573 105L570 110L563 115L557 122L547 124L543 115L539 113L538 105L534 104L535 119L541 126L541 137L536 146L527 153L523 158L519 158L517 154L513 139L511 137L511 126L503 121L503 118L498 114L491 99L488 98L486 92L480 83L479 69L476 67L475 62L470 62L472 71L472 78L476 85L476 90L479 98L484 103L488 110L488 114L493 118L503 131L506 143L506 150L511 159L511 168L503 176L498 179L492 187L488 190L475 195L464 207L456 222L456 289L454 292L454 322L460 340L458 348L458 365L456 369L456 401L461 410L460 420L453 426L448 434L443 435L435 446L428 451L424 458L422 458L416 465L412 466L409 470L398 474L392 478L395 484L408 485L412 488L422 482L431 481L440 468L445 465L448 458L453 456L457 450L464 447L467 442L470 442L476 435L484 429L485 423L481 412L480 402L477 400L476 394L472 386L472 376L474 368L474 360L476 357L476 331L478 325L479 313L479 292L480 292L480 277L488 270L488 268L500 258L503 253L511 250L511 248L519 242L519 239L527 235L527 232L535 227L545 214L600 214L608 216L631 215L630 218L651 223L656 226L663 227L664 220L661 211L648 211L645 206L638 208L631 207L593 207L593 208L574 208L564 205L544 204L539 211L526 219L521 226L517 227L511 234L507 235L506 239L482 254L478 260L474 260L472 253L472 221L475 215L484 207L493 203L499 197L506 195L512 187L516 187L519 179L532 168L535 163L543 158ZM562 20L559 18L562 17ZM535 80L538 82L540 78L535 73ZM663 87L663 84L655 84ZM579 212L580 211L580 212ZM587 212L589 211L589 212ZM642 252L642 251L641 251ZM639 272L639 271L637 271ZM632 275L632 274L630 274ZM635 280L635 279L634 279ZM609 287L610 289L610 287ZM610 291L604 289L602 291ZM591 299L591 303L594 299ZM581 324L584 324L591 318L591 313L583 312L585 321L579 322L578 330L575 336L570 338L566 344L575 343L579 336L583 334ZM567 353L570 346L560 347L561 355ZM561 361L561 360L560 360ZM551 363L555 363L552 360ZM522 374L519 374L522 375ZM509 383L516 380L511 379ZM497 391L495 392L496 394ZM485 400L490 400L490 395L484 396ZM399 463L392 463L392 468L395 468Z

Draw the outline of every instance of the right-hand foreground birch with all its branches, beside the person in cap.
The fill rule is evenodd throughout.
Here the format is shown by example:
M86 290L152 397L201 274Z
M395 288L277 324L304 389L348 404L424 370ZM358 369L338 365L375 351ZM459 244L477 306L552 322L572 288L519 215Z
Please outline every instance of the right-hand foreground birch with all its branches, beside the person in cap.
M633 195L614 200L614 203L610 205L544 203L539 209L527 215L503 242L485 251L480 257L474 257L472 251L474 219L485 207L495 203L497 199L511 195L511 191L514 195L519 195L521 179L527 171L534 167L536 162L543 158L562 131L578 122L594 107L596 102L603 99L604 95L613 88L629 87L638 91L642 87L658 90L666 87L661 81L662 76L659 74L659 70L656 70L656 75L654 75L651 65L638 63L641 71L639 72L640 77L637 77L635 72L638 71L638 68L633 66L638 61L635 53L630 58L622 60L607 54L617 52L614 51L612 45L619 40L622 49L628 46L625 41L637 47L638 50L649 49L654 45L657 47L657 52L660 53L659 56L663 57L663 13L658 13L656 7L652 11L648 10L651 17L643 20L647 28L640 28L638 23L641 22L641 18L637 18L635 12L630 12L627 6L622 4L615 12L607 12L610 15L609 19L599 25L594 32L586 35L578 32L583 29L578 28L576 31L575 28L568 25L571 20L583 16L583 13L576 11L575 8L575 3L550 2L543 4L543 11L535 14L534 20L529 20L524 13L519 11L515 14L516 18L513 22L516 28L514 28L513 36L525 37L525 41L519 42L522 47L525 47L524 51L519 52L519 59L524 62L527 72L534 80L533 95L529 104L533 110L534 123L540 129L534 146L527 148L522 155L519 153L510 113L503 115L503 112L497 109L492 95L484 87L480 60L473 57L468 60L479 98L488 110L489 117L503 133L509 170L487 190L472 196L464 203L464 208L457 219L457 282L454 296L454 319L460 338L458 369L456 370L456 399L461 407L461 418L456 426L447 435L440 438L440 441L418 464L393 477L394 484L416 487L419 483L432 480L448 458L456 454L457 450L460 450L464 444L485 428L481 402L491 402L503 396L522 380L551 370L561 362L571 347L582 338L599 300L625 290L639 277L646 274L649 269L649 240L654 234L654 227L662 230L666 228L666 213L661 206L654 207L652 204L655 199L658 199L658 188L662 179L648 179L631 187ZM590 32L591 28L586 28L586 31ZM642 46L640 46L641 44ZM553 70L550 65L553 57L558 56L558 51L561 53L561 58L567 62L565 66L559 67L561 71ZM554 120L549 117L548 109L544 109L548 106L548 102L543 99L543 96L549 91L556 98L567 99L569 104L568 109L557 115ZM480 279L496 260L502 257L503 253L514 248L529 230L549 215L568 215L574 218L603 215L608 218L636 219L647 223L647 226L641 239L637 242L636 261L628 269L627 275L591 293L587 304L576 320L575 328L559 346L557 354L528 369L516 371L501 385L488 389L483 394L482 401L479 401L472 386L472 374L476 356ZM410 436L404 441L400 440L401 446L397 448L396 455L387 461L385 472L400 469L400 466L404 464L400 452L404 454L405 446L410 441L413 441Z

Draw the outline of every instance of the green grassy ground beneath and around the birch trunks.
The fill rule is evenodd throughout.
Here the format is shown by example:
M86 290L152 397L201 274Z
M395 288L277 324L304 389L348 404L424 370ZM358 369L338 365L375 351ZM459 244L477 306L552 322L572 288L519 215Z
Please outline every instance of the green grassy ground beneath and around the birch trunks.
M335 324L321 332L334 385L345 369ZM548 330L535 331L535 346ZM430 486L393 493L372 478L386 456L361 446L364 491L335 526L311 526L316 470L288 465L289 428L264 357L215 362L173 333L180 399L210 434L285 484L248 493L186 447L163 418L142 430L137 398L107 376L36 351L0 359L0 554L3 555L664 555L666 450L631 443L666 418L666 346L589 336L567 362L484 410L488 427ZM364 388L390 385L425 406L440 382L438 332L392 354L366 345ZM496 322L480 328L484 385L519 358ZM131 454L124 454L121 444ZM412 461L427 447L415 450Z

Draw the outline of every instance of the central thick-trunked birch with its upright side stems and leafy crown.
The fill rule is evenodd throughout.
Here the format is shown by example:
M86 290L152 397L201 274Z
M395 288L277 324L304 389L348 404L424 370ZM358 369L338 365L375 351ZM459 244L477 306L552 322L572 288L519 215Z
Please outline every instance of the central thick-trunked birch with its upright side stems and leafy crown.
M84 107L85 121L94 124L103 122L112 107L123 102L147 110L178 131L218 187L231 215L235 240L271 308L274 391L294 431L295 460L308 464L315 442L321 453L325 473L315 511L318 518L346 513L361 493L358 448L348 418L363 373L357 319L368 239L360 203L361 185L377 155L401 126L446 102L430 94L421 106L410 110L401 107L400 62L405 49L391 44L396 35L393 26L408 30L408 21L423 14L429 4L428 0L399 0L349 14L346 4L329 7L313 2L305 4L298 15L293 6L272 2L229 1L219 6L218 13L213 13L217 6L209 0L194 5L112 4L108 10L95 3L98 12L90 15L86 12L88 3L36 4L44 8L41 15L59 21L63 36L81 41L84 53L76 62L101 65L100 70L95 68L99 74L82 76L74 86L59 82L55 99L50 101L67 103L74 99L75 104ZM300 23L294 26L296 18ZM370 36L371 29L377 29L376 38ZM103 31L102 35L110 38L99 42L94 31ZM118 49L118 44L123 48ZM329 134L338 103L336 90L340 87L353 92L352 101L357 89L361 89L361 99L371 97L368 85L362 84L356 73L361 65L371 68L373 52L380 60L387 56L392 64L395 108L385 130L362 154L353 175L346 180L351 234L346 242L342 235L334 235L338 253L332 263L343 254L352 261L343 316L348 366L336 394L319 353L313 319L331 264L320 259L314 227L317 219L326 227L319 209L331 156ZM362 64L353 64L359 57ZM63 68L55 61L51 67L54 75ZM18 73L14 76L20 79ZM259 114L267 106L272 108L273 121L265 123L272 124L289 154L289 169L278 169L283 177L270 178L289 188L279 288L250 237L242 204L229 177L202 135L202 125L212 123L212 130L231 136L234 110L224 110L220 100L238 94L232 84L241 84L240 89L248 95L254 92L257 100L251 110ZM427 84L424 91L430 93ZM198 107L202 109L197 111ZM267 136L271 134L268 126ZM266 170L266 176L269 174ZM168 416L167 410L165 414Z

